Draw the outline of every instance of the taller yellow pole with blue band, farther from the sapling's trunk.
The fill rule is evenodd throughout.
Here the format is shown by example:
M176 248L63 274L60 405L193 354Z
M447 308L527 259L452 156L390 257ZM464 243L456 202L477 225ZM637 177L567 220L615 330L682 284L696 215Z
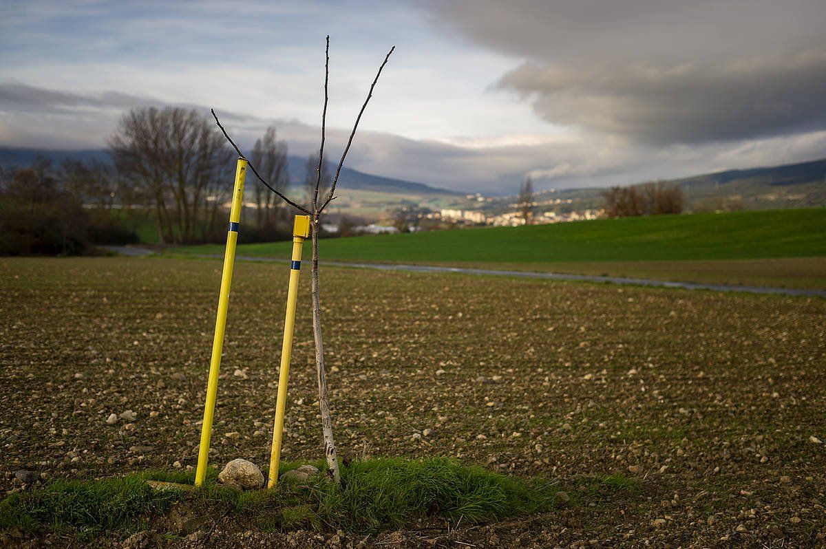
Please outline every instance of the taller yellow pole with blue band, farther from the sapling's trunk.
M215 337L212 338L212 359L209 365L207 382L207 403L204 405L204 422L201 428L201 446L198 448L198 468L195 472L195 485L200 486L207 478L207 461L212 437L212 417L215 414L215 400L218 394L218 372L221 370L221 349L224 347L224 329L226 328L226 310L230 305L230 285L232 267L235 264L235 244L238 241L238 225L241 220L241 204L244 198L244 177L247 174L247 161L238 159L235 167L235 190L232 193L230 209L230 228L226 234L226 251L224 253L224 271L221 274L221 294L218 297L218 315L215 321Z

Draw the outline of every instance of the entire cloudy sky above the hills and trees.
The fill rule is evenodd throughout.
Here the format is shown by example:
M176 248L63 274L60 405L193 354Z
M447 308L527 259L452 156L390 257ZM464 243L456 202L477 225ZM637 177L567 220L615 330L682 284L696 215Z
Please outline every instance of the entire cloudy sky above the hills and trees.
M214 107L350 168L466 192L826 157L823 0L0 0L0 146L105 147L124 112Z

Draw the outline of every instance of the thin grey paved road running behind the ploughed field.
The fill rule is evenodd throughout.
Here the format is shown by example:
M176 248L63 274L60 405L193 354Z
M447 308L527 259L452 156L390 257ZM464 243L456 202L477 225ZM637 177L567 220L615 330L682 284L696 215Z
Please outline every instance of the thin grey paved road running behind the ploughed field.
M140 256L154 253L145 248L133 248L126 246L104 246L116 253L124 255ZM202 254L198 258L223 258L223 255ZM237 259L256 262L287 262L283 258L260 258L254 256L236 256ZM506 271L500 269L472 269L462 267L436 267L432 265L403 265L395 263L344 263L336 261L325 261L324 265L335 267L352 267L361 269L377 269L379 271L410 271L410 272L458 272L461 274L487 275L494 277L523 277L540 278L544 280L573 280L582 282L613 282L615 284L634 284L637 286L657 286L663 288L682 288L684 290L710 290L710 291L739 291L750 294L779 294L785 296L819 296L826 297L826 290L805 290L799 288L776 288L770 286L735 286L732 284L699 284L695 282L669 282L663 280L653 280L650 278L629 278L629 277L599 277L596 275L565 274L562 272L532 272L532 271Z

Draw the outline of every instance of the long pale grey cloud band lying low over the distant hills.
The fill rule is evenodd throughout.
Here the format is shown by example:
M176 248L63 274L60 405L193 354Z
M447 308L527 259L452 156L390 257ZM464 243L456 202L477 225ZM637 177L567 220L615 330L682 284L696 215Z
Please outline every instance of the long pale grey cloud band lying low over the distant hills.
M55 92L0 83L0 146L55 149L106 144L123 111L163 106L148 97L122 93ZM208 116L209 108L194 108ZM306 155L318 146L318 128L293 120L265 120L223 111L221 121L245 149L268 125L278 128L290 153ZM330 159L337 158L349 130L328 130ZM813 159L826 149L826 131L730 144L651 147L610 135L580 135L552 143L460 147L399 135L359 132L348 157L351 168L425 182L463 192L515 192L527 173L538 187L600 187L656 177L678 177L714 169L742 168Z

